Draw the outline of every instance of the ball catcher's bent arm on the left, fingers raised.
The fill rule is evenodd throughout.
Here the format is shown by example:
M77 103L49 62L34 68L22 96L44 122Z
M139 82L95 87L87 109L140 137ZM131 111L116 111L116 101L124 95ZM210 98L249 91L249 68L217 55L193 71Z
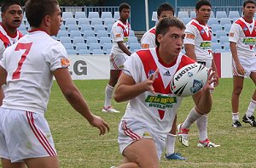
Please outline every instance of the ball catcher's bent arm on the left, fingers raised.
M154 92L152 84L158 73L159 70L156 70L154 75L150 76L146 81L139 83L136 83L131 76L122 73L117 83L117 87L115 88L113 98L116 102L125 102L132 98L136 98L143 92Z

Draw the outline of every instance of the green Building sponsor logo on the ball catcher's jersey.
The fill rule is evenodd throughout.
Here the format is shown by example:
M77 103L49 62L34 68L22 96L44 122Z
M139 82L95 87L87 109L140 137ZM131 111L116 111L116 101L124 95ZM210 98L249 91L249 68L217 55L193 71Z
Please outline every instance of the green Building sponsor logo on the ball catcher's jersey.
M177 98L163 96L160 94L157 96L148 95L148 97L145 99L145 102L148 103L149 107L154 107L157 109L166 109L172 108L173 104L177 104Z

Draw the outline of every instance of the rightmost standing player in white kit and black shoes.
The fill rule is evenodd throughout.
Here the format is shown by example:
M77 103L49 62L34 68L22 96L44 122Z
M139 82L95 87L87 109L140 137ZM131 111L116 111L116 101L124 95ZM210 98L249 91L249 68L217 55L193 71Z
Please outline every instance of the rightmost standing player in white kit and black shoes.
M247 0L243 3L243 16L236 20L230 29L230 50L233 57L233 92L232 104L232 126L241 127L239 122L239 97L243 87L245 76L249 76L256 85L256 57L255 57L255 37L256 22L253 19L256 10L256 3ZM256 126L253 116L256 108L256 90L254 89L252 100L247 108L247 112L242 117L242 121Z

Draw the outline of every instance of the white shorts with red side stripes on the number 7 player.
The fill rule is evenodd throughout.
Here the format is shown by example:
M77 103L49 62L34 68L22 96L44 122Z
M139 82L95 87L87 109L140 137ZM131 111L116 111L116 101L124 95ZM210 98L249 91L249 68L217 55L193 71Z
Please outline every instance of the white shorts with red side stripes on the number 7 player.
M49 125L43 115L0 108L0 157L20 162L56 156Z

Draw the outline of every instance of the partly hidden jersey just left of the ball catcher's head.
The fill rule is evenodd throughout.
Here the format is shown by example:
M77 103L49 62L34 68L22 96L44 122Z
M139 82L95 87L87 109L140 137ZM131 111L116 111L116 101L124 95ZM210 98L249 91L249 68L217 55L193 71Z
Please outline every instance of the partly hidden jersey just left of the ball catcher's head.
M142 48L155 48L155 26L149 29L141 39Z

